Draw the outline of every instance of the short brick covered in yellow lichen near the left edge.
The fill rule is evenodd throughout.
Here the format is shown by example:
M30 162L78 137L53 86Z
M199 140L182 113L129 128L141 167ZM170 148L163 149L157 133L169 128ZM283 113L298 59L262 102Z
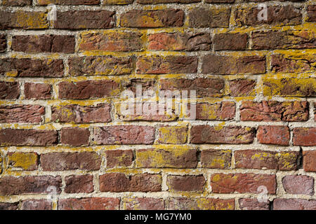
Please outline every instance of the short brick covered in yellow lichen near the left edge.
M8 167L22 170L36 170L39 167L37 153L8 153Z

